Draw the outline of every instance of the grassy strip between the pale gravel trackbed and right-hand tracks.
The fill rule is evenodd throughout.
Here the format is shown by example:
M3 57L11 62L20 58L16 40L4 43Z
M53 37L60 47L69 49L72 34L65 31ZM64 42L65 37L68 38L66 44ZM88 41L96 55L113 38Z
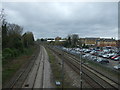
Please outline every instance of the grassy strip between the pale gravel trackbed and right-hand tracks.
M60 64L58 64L57 59L53 55L53 53L48 48L46 48L46 50L48 52L50 65L51 65L51 69L52 69L52 73L53 73L53 77L54 77L54 82L55 81L62 82L62 68L61 68ZM64 74L64 88L74 88L73 86L70 85L71 81L68 80L67 77L68 77L68 75L65 73ZM62 88L62 85L56 86L56 88Z

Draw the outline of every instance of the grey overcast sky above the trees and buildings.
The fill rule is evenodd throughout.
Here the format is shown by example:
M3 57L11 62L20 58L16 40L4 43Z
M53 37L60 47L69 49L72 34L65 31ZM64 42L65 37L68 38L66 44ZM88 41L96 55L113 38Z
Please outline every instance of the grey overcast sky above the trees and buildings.
M4 2L6 20L32 31L35 38L114 37L118 35L117 2Z

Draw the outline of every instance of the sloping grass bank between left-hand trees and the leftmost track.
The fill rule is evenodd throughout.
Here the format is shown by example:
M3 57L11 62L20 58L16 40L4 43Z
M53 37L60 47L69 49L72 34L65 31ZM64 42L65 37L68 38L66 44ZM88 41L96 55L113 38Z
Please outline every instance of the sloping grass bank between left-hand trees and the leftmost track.
M11 77L21 68L21 66L26 63L32 54L35 52L36 48L31 47L27 49L26 54L22 54L19 57L11 60L11 62L5 63L2 67L2 83L9 81Z

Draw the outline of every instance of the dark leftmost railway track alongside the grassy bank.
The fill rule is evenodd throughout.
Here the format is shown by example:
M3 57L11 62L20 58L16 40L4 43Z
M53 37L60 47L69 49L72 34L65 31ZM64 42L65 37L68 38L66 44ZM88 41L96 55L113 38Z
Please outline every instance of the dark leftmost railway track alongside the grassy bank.
M34 53L34 55L32 56L31 60L28 61L24 67L22 69L19 70L19 75L17 75L17 77L15 76L16 79L11 80L8 82L7 85L5 85L5 87L3 88L20 88L22 87L22 84L25 80L25 78L28 76L29 72L31 71L34 63L35 63L35 59L37 58L37 53L39 52L39 47L38 50Z

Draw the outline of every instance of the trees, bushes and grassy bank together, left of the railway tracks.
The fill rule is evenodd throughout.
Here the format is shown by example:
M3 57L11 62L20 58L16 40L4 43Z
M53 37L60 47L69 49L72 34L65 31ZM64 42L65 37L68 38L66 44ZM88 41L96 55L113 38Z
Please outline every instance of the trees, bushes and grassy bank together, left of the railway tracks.
M2 25L2 81L8 81L34 53L36 46L32 32L23 32L23 27L6 22Z

